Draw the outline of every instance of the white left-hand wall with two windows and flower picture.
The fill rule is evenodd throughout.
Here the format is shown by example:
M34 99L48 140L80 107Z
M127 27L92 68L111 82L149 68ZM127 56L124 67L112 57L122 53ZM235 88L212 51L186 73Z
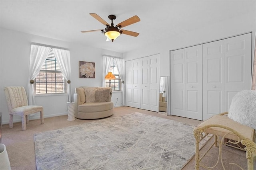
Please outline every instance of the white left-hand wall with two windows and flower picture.
M0 28L0 112L2 112L3 124L9 123L3 88L5 86L27 87L31 42L70 49L72 94L77 86L101 86L103 54L122 58L122 53ZM95 78L78 78L79 61L95 63ZM117 104L116 98L118 98ZM37 105L44 107L44 117L67 115L67 95L36 96L35 100ZM122 106L120 92L113 92L112 100L116 106ZM31 119L38 118L39 114L31 117ZM21 121L20 116L14 116L14 122L18 121Z

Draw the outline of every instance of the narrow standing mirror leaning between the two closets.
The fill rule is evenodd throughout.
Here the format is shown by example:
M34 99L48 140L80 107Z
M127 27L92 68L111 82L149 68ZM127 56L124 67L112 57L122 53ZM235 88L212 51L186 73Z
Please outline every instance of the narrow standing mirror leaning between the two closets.
M169 76L160 77L160 90L159 90L159 113L167 112L167 99L168 99L168 86Z

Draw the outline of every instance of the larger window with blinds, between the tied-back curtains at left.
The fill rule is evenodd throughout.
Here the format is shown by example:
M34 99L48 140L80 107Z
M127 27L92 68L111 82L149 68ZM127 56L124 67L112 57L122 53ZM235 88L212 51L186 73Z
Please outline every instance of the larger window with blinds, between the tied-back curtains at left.
M60 71L54 52L50 52L35 80L36 94L61 94L66 93L66 81Z

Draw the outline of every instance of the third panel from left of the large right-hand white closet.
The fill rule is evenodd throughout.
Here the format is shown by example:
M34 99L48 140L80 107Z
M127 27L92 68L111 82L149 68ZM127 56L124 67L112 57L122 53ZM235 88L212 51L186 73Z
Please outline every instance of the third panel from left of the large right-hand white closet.
M224 40L203 44L203 120L224 112Z

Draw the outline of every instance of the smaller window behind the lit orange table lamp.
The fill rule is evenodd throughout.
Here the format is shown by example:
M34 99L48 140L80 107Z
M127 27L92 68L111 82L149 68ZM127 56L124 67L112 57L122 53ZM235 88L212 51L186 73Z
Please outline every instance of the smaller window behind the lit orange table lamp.
M112 72L112 74L114 74L114 76L116 76L115 80L110 80L110 87L112 88L112 91L120 91L122 82L121 82L114 58L110 65L109 72ZM109 80L105 81L105 87L109 87Z

